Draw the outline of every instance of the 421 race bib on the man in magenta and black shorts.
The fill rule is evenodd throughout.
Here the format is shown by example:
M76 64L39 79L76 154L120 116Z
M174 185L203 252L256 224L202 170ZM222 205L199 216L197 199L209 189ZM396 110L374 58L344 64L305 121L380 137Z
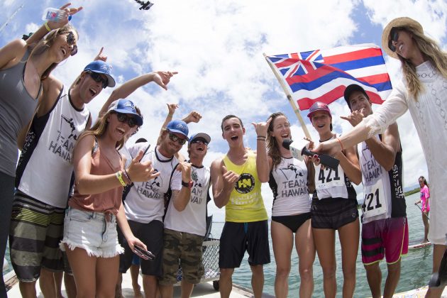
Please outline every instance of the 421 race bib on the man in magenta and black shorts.
M365 200L363 201L363 217L368 219L373 216L387 213L387 203L383 193L382 180L377 180L375 184L363 188Z

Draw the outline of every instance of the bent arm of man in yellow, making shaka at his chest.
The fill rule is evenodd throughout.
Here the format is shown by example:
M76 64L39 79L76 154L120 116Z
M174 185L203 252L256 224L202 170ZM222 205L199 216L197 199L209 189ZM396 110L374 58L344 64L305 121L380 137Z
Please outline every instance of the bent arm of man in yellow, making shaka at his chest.
M211 163L211 184L213 186L214 204L222 208L226 204L233 192L239 175L233 171L226 170L222 159L214 160Z

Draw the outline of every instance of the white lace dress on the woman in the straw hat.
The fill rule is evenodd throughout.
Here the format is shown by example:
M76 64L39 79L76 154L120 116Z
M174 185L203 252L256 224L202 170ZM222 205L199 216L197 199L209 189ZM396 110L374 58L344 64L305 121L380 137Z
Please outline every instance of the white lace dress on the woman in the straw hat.
M403 82L395 87L382 106L364 119L369 135L382 133L409 109L419 135L429 169L430 230L429 240L446 244L447 233L447 79L431 62L416 67L424 91L415 101Z

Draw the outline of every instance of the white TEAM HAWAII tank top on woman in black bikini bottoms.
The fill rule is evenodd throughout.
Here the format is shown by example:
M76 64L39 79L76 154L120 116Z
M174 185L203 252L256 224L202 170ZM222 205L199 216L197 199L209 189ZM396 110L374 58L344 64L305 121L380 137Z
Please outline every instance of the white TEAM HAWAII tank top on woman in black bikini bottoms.
M307 166L295 158L281 158L270 172L268 182L273 192L272 216L310 212Z

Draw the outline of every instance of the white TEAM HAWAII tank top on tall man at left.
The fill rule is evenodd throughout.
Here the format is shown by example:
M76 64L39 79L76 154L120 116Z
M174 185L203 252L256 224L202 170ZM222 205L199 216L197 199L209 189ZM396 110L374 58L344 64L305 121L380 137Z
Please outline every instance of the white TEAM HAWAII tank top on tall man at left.
M16 171L21 192L57 208L67 206L73 148L89 115L86 108L76 109L62 88L48 114L33 119Z

